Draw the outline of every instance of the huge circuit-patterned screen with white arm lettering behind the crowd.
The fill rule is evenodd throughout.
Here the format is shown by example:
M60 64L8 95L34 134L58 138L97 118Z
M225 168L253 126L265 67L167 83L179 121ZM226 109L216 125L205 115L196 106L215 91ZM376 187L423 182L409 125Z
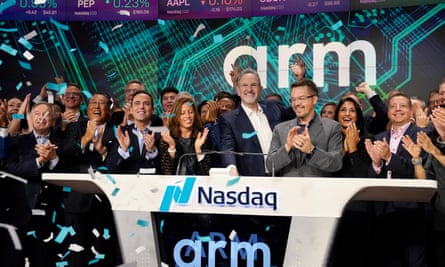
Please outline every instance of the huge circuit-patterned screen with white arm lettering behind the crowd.
M301 1L306 8L336 12L301 8L275 16L249 12L267 15L273 3L293 10L288 5L296 1L200 0L188 7L186 0L89 0L83 7L79 1L0 0L1 97L36 95L43 84L64 76L85 91L106 91L120 101L125 83L138 78L155 97L161 88L176 86L200 102L233 90L233 64L258 69L263 95L278 93L289 104L289 65L301 59L307 76L321 81L320 109L362 81L372 81L384 99L393 89L426 98L443 78L445 4L433 3L438 1L391 8L372 8L365 0ZM212 11L223 7L250 11L237 17ZM169 10L189 13L169 19ZM204 18L183 20L187 14ZM347 62L340 60L345 57Z

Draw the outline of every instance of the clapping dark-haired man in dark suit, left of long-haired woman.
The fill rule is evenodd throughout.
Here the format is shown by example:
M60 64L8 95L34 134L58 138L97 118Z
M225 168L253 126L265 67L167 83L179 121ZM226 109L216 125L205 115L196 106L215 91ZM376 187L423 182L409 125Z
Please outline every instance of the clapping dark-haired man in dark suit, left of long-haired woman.
M146 91L134 94L130 106L133 124L118 127L117 143L108 152L106 165L111 172L139 173L141 168L159 170L159 135L152 125L153 98Z

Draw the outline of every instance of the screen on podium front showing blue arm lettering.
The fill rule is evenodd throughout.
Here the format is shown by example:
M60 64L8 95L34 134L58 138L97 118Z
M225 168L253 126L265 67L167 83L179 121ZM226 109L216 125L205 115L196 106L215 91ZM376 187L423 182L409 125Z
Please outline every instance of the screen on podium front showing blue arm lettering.
M168 266L283 266L290 217L154 213Z

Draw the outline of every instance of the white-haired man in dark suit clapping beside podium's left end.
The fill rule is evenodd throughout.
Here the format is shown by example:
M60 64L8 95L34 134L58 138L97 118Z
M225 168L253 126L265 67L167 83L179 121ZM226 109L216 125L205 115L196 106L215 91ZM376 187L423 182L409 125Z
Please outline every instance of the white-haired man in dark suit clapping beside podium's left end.
M62 142L52 133L54 111L50 104L39 103L31 110L33 132L11 139L11 152L5 163L5 170L25 178L23 199L31 209L43 211L43 216L32 216L20 229L22 234L34 231L24 237L24 254L32 266L51 266L57 260L56 243L43 242L51 233L60 229L52 222L53 214L61 214L61 188L42 183L41 174L60 169L63 161L59 158Z

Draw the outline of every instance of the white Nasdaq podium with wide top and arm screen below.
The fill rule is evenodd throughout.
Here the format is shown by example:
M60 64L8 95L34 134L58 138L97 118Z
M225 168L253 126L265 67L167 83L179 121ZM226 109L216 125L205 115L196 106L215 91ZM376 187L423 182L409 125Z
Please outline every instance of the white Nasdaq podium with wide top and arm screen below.
M350 200L429 202L415 179L47 173L43 180L105 194L122 266L325 266ZM219 265L218 265L219 264Z

